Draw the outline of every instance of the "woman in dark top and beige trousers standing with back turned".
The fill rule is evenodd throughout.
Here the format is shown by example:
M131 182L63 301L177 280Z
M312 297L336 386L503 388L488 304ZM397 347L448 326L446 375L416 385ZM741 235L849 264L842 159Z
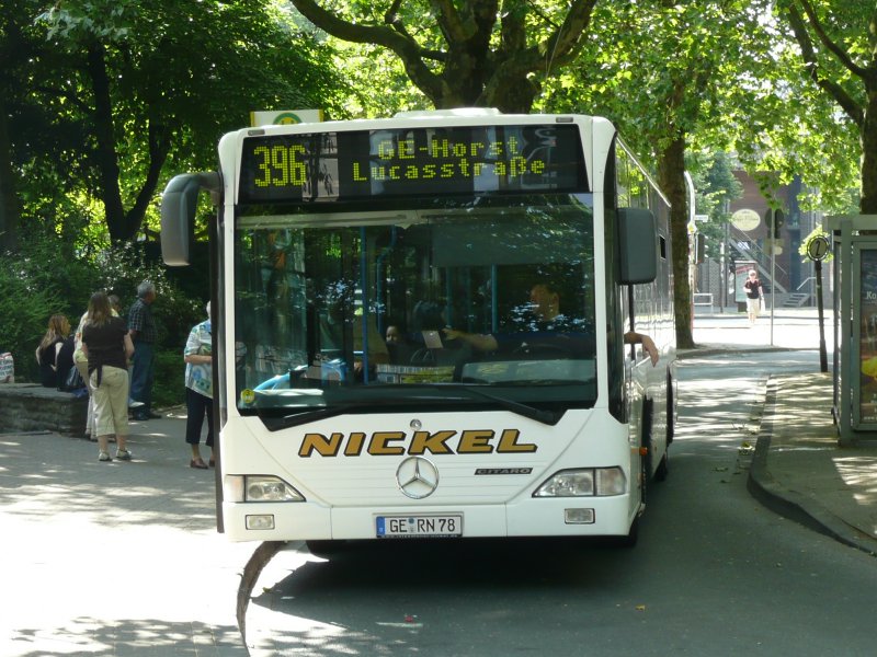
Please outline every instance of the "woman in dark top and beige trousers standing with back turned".
M116 437L116 459L130 461L128 436L128 358L134 354L128 328L114 316L104 292L94 292L82 326L82 350L89 359L94 400L98 460L110 461L107 443Z

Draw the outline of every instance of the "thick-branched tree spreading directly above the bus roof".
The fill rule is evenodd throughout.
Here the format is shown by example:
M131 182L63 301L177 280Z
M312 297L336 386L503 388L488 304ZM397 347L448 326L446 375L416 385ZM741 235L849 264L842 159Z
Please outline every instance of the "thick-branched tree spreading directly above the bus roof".
M315 25L395 53L435 107L528 112L542 82L574 60L596 0L292 0Z

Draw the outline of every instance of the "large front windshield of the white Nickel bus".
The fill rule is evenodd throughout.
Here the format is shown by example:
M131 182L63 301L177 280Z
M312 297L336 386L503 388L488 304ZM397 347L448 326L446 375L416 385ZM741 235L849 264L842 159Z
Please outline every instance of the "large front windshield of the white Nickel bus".
M240 205L235 221L242 413L593 405L591 194Z

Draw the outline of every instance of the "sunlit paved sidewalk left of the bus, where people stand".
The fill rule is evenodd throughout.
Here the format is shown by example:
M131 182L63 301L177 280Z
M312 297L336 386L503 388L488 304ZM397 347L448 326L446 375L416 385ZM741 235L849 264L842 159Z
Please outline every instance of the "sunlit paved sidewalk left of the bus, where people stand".
M236 597L254 546L216 532L214 471L189 468L184 425L133 422L130 463L0 434L0 655L247 655Z

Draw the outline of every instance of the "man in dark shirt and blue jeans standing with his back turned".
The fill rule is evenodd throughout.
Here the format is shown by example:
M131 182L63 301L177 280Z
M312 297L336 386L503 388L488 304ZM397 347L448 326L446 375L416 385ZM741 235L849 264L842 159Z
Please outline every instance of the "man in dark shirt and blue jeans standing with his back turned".
M152 319L152 302L156 286L144 280L137 286L137 300L128 311L128 333L134 343L130 376L130 399L143 406L134 411L134 419L145 420L161 417L152 413L152 381L156 376L156 321Z

